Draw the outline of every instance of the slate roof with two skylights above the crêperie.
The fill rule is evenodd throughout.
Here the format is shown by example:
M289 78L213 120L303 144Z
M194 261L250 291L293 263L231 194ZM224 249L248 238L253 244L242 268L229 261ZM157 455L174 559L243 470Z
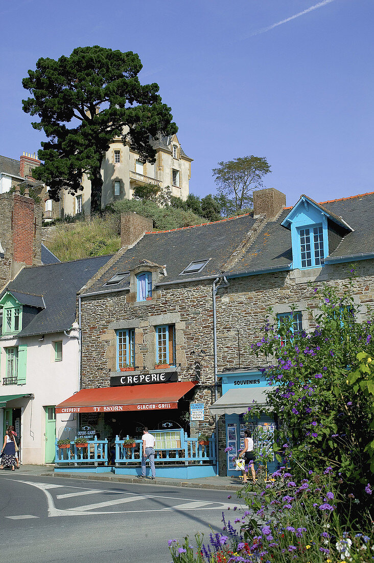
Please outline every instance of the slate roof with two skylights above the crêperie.
M136 268L142 260L166 265L165 282L215 277L222 272L224 263L246 238L255 224L253 214L217 221L206 225L186 227L172 231L147 233L112 265L88 292L109 289L105 283L119 272ZM200 272L179 275L190 262L210 259ZM129 280L111 286L126 288Z

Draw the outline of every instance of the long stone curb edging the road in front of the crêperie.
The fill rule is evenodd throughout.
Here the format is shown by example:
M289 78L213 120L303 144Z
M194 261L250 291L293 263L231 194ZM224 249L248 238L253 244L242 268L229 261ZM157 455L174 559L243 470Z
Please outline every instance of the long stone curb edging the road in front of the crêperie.
M137 477L127 477L124 478L123 476L119 475L108 475L106 473L101 473L100 477L98 477L97 473L51 473L51 472L40 472L40 473L22 473L21 471L17 472L17 475L26 475L26 476L35 476L35 477L65 477L67 479L80 479L80 480L87 480L87 481L106 481L106 482L118 482L118 483L137 483L139 484L139 479ZM228 491L238 491L241 486L238 485L214 485L209 483L196 483L196 482L188 482L188 481L169 481L167 479L151 481L148 483L146 481L142 481L142 484L145 485L160 485L160 486L171 486L171 487L183 487L183 488L191 488L191 489L209 489L209 490L228 490Z

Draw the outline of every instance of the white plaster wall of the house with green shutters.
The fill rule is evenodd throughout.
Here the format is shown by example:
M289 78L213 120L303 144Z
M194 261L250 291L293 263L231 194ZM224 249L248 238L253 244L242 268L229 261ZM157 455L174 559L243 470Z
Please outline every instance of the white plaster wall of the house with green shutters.
M73 332L71 332L73 334ZM27 369L25 385L2 385L6 377L4 347L17 346L17 339L1 341L0 395L34 394L29 398L15 399L7 408L24 407L22 419L22 463L44 463L46 412L44 406L56 406L79 390L78 381L78 340L67 338L64 333L48 334L43 341L38 336L23 338L26 343ZM62 340L62 361L55 361L53 341ZM76 426L76 420L57 415L56 434L65 426ZM61 433L61 432L60 432Z

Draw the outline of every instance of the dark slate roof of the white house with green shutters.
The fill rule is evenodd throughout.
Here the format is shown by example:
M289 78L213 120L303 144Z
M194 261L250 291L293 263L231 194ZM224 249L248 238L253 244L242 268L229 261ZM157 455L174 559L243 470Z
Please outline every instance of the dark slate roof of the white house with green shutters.
M30 299L30 296L42 296L46 309L41 310L18 336L68 330L75 319L76 293L110 258L99 256L21 270L1 297L6 291L18 293L16 298L21 302L22 299Z

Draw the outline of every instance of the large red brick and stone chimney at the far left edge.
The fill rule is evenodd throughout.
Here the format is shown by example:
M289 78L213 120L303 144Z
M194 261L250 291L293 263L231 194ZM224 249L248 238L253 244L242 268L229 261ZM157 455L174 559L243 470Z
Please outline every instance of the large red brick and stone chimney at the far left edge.
M24 266L40 265L42 207L15 193L0 194L0 290Z

